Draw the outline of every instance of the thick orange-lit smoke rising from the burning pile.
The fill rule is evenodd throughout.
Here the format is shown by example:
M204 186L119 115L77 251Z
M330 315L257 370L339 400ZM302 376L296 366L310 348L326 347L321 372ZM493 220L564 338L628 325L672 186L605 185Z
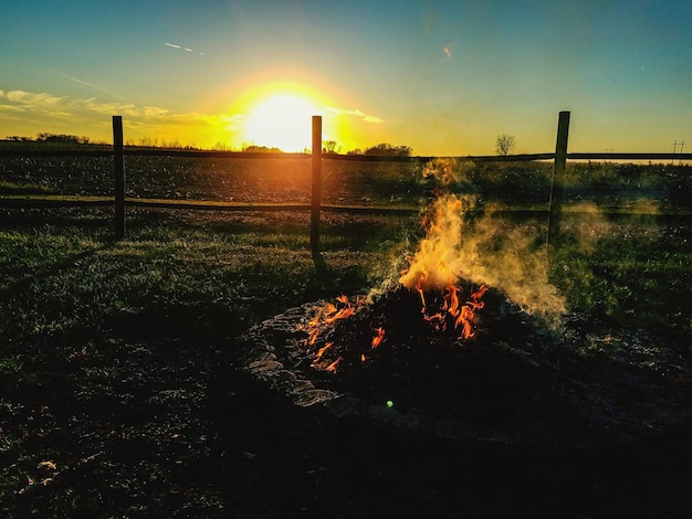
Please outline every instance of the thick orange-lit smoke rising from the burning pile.
M566 311L565 298L548 280L545 230L537 224L517 224L479 216L475 197L450 193L463 180L453 160L430 162L423 178L433 179L432 206L422 218L424 237L409 267L399 278L408 288L443 289L460 278L504 292L525 311L556 322ZM471 218L464 218L464 210Z

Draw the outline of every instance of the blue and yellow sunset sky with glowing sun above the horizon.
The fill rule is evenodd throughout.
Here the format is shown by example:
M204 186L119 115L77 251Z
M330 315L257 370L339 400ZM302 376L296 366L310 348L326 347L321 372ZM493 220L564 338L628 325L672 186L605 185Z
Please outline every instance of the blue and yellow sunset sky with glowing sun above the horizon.
M531 153L559 110L570 151L692 150L692 2L2 2L0 138Z

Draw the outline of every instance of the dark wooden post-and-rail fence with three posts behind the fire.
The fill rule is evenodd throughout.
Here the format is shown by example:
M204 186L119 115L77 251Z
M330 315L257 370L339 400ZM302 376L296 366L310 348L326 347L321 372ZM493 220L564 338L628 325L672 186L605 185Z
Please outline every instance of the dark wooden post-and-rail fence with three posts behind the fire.
M548 209L548 245L557 244L559 241L562 198L567 160L692 160L692 153L570 153L567 151L569 135L569 112L560 112L557 126L557 139L554 152L548 153L523 153L507 156L466 156L451 157L476 162L525 162L535 160L553 160L553 181L551 187L549 209ZM113 116L113 150L78 150L78 149L46 149L46 150L21 150L0 149L2 157L113 157L115 197L113 201L105 202L115 205L115 237L125 237L125 208L130 205L146 205L151 208L166 209L200 209L200 210L226 210L226 211L310 211L310 237L313 254L319 253L319 220L322 210L329 211L357 211L354 208L325 206L322 204L322 117L313 117L312 126L312 153L268 153L247 151L203 151L189 149L128 149L123 145L123 117ZM158 157L196 157L196 158L220 158L220 159L311 159L312 160L312 189L311 203L307 204L245 204L232 203L171 203L166 200L138 201L125 198L125 156L158 156ZM436 157L394 157L394 156L349 156L328 155L329 160L356 160L356 161L386 161L386 162L409 162L426 163ZM4 200L7 201L7 200ZM0 202L3 199L0 198ZM64 201L62 205L87 205L87 201ZM388 209L387 212L396 210Z

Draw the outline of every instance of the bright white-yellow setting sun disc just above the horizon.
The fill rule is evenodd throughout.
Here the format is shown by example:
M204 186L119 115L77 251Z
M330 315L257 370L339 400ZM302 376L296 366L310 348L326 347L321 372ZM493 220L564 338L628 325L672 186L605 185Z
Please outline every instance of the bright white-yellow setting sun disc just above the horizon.
M312 145L312 116L315 105L294 94L274 94L254 106L244 127L247 144L303 151Z

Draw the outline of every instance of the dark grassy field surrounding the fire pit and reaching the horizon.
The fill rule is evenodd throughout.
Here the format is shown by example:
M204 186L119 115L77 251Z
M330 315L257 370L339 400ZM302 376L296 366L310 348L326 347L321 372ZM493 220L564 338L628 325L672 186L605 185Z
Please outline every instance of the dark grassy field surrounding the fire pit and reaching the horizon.
M127 197L307 203L310 163L270 163L127 158ZM551 280L569 316L636 339L587 327L580 354L595 368L646 346L656 350L647 369L690 386L689 167L570 167L553 264L539 212L549 165L443 167L484 276L547 320ZM324 203L423 209L434 182L420 170L326 161ZM325 211L316 268L305 213L128 209L116 242L109 206L32 206L31 197L108 197L111 174L106 159L0 161L4 515L692 511L690 409L633 451L474 451L321 421L240 369L234 347L251 326L396 276L421 236L419 215Z

